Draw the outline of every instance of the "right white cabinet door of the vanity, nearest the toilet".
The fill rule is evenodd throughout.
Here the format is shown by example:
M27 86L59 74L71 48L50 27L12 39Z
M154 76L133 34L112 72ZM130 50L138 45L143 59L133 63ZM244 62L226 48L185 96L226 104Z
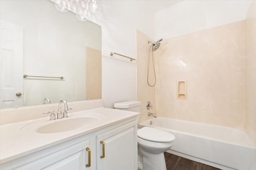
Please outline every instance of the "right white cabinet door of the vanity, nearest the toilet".
M137 168L136 128L129 123L97 136L97 170Z

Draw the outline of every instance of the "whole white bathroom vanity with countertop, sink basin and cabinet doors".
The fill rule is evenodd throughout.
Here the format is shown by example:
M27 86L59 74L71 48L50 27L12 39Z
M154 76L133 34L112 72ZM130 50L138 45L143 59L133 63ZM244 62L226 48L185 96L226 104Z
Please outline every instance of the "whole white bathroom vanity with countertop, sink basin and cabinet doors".
M53 121L41 112L56 104L2 110L0 169L136 170L139 113L102 106L70 103L68 117Z

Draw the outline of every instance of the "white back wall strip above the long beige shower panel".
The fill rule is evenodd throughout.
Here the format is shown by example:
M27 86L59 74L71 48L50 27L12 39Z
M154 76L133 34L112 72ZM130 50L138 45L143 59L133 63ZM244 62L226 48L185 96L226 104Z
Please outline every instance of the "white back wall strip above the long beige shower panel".
M185 0L155 15L155 37L167 39L244 20L245 0Z

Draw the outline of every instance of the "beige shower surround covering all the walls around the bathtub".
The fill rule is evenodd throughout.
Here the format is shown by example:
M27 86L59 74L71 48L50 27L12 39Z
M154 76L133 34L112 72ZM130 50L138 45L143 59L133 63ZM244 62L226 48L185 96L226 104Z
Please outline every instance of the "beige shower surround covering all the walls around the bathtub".
M151 100L158 116L245 129L256 146L256 1L246 5L246 20L161 41L155 89L146 83L149 37L137 31L140 122L148 119L145 104ZM179 80L187 81L186 100L176 98Z

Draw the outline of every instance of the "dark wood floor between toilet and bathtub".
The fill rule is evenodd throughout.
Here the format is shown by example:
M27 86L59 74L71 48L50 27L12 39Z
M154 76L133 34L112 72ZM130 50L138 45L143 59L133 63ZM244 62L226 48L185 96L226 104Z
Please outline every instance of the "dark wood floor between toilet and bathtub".
M220 170L193 160L164 152L167 170Z

